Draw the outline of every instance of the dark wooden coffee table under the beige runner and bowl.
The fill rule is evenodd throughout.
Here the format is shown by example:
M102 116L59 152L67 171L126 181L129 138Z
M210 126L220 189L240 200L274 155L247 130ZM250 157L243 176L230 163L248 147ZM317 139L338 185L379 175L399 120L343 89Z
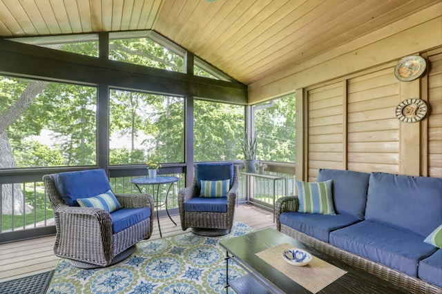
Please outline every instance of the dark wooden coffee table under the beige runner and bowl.
M353 268L336 257L326 255L314 248L302 244L298 240L280 233L273 228L248 233L240 237L220 242L226 250L226 258L233 259L236 264L247 271L247 275L229 281L229 262L226 261L226 290L231 287L237 293L311 293L300 286L287 275L267 264L256 253L273 248L280 244L291 244L303 248L311 255L323 259L329 264L347 271L332 284L323 288L319 293L408 293L390 282L382 280L372 274ZM282 258L282 257L275 257Z

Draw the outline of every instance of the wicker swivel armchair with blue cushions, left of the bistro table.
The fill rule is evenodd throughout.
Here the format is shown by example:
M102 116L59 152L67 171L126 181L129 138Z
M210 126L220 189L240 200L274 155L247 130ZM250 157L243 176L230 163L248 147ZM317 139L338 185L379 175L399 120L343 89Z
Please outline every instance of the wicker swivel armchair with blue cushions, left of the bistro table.
M66 180L66 176L70 175L76 176L77 182L74 180L66 184L66 181L70 180ZM112 213L102 208L77 205L76 199L79 197L75 198L75 194L84 193L81 197L93 197L97 194L90 195L90 193L96 193L96 187L100 184L110 188L104 170L45 175L43 180L46 194L54 210L57 228L54 253L58 257L68 259L73 266L79 268L110 266L131 255L135 251L137 242L151 237L153 230L151 195L115 195L121 208ZM66 191L69 188L77 191ZM72 202L68 202L70 205L66 204L66 192L73 197ZM104 192L106 191L99 193ZM142 215L142 220L133 217L135 214ZM120 227L117 230L115 222L117 219L122 220L122 217L132 217L133 220L130 224L119 222Z

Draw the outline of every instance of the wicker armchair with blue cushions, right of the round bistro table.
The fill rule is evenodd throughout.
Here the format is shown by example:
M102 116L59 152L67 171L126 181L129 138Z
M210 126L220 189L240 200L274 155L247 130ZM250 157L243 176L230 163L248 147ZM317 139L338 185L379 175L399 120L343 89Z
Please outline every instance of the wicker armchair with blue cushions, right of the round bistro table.
M226 179L226 170L230 170L231 185L227 197L222 199L203 198L201 195L201 181L215 181ZM218 172L219 171L219 172ZM218 236L230 233L235 213L236 194L238 192L238 166L234 164L197 164L193 184L178 193L178 207L180 208L181 226L183 231L191 231L198 235ZM195 201L204 202L201 206ZM212 202L213 201L213 202ZM222 204L219 204L222 201ZM191 204L193 202L193 204ZM217 202L215 204L215 202ZM213 203L213 204L212 204ZM224 206L225 212L210 209L215 205ZM190 206L193 206L190 208ZM197 207L198 206L198 207ZM209 207L209 210L206 208ZM219 206L218 206L219 207ZM195 211L196 210L196 211Z

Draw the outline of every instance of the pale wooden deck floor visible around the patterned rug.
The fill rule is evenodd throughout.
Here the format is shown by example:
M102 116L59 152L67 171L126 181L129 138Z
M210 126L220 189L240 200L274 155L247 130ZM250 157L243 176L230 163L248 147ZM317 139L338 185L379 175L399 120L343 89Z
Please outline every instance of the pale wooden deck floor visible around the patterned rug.
M183 233L180 216L173 216L173 220L177 226L169 217L160 218L163 237ZM273 213L249 204L240 204L236 208L235 222L242 222L256 230L276 228L276 224L273 223ZM155 219L151 239L157 238L160 238L160 233ZM0 244L0 282L44 273L55 268L59 258L52 251L54 242L55 236L50 236Z

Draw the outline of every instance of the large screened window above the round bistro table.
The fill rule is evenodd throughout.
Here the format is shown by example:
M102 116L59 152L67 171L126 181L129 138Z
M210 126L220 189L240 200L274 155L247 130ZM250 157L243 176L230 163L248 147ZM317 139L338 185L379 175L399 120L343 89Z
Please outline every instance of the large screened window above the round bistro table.
M184 161L184 99L111 89L111 165Z

